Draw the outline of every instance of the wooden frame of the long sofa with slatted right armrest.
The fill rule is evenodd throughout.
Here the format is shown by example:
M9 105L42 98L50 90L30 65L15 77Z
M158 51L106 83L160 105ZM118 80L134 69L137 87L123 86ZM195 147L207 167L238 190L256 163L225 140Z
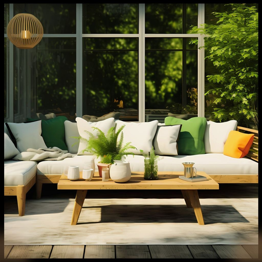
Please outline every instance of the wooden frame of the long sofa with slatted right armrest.
M250 128L245 127L237 127L237 131L243 132L243 133L253 133L254 136L254 142L249 150L249 153L246 157L249 157L253 161L258 162L258 130L253 130ZM247 175L241 175L241 174L234 174L234 175L209 175L212 179L214 179L217 183L225 183L225 184L231 184L231 183L258 183L258 174L247 174ZM42 184L57 184L59 179L61 178L61 174L55 174L55 175L36 175L36 198L41 198L41 192L42 192ZM67 178L67 177L64 177Z

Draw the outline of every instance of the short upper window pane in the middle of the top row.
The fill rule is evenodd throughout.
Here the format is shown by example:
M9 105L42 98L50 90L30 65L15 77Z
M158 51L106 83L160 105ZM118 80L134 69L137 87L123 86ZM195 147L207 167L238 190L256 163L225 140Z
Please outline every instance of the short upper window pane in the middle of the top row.
M138 34L138 4L83 4L84 34Z

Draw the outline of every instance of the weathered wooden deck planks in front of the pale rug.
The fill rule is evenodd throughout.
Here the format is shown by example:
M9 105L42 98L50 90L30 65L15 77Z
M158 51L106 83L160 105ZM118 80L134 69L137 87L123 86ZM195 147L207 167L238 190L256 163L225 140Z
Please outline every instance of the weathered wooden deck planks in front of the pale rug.
M4 258L239 258L249 260L258 259L258 245L5 245Z

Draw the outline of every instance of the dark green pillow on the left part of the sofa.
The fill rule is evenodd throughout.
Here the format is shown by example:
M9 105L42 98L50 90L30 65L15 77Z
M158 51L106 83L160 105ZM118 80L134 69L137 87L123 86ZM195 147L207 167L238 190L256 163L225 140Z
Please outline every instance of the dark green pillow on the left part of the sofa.
M26 118L26 121L31 122L39 119ZM65 127L64 122L68 120L65 116L58 116L48 120L42 121L42 137L45 141L47 148L54 146L68 150L65 144Z

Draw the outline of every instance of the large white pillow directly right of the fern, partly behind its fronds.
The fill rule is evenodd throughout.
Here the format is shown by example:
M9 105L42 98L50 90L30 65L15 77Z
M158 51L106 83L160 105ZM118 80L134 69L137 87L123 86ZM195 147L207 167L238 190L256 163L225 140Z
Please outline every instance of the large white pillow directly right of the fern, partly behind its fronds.
M124 122L117 120L117 130L125 125L122 130L124 139L123 145L131 142L130 145L135 146L137 149L131 149L135 155L148 154L153 146L153 139L157 129L157 120L150 122L134 123L134 122ZM140 150L143 150L141 152Z

